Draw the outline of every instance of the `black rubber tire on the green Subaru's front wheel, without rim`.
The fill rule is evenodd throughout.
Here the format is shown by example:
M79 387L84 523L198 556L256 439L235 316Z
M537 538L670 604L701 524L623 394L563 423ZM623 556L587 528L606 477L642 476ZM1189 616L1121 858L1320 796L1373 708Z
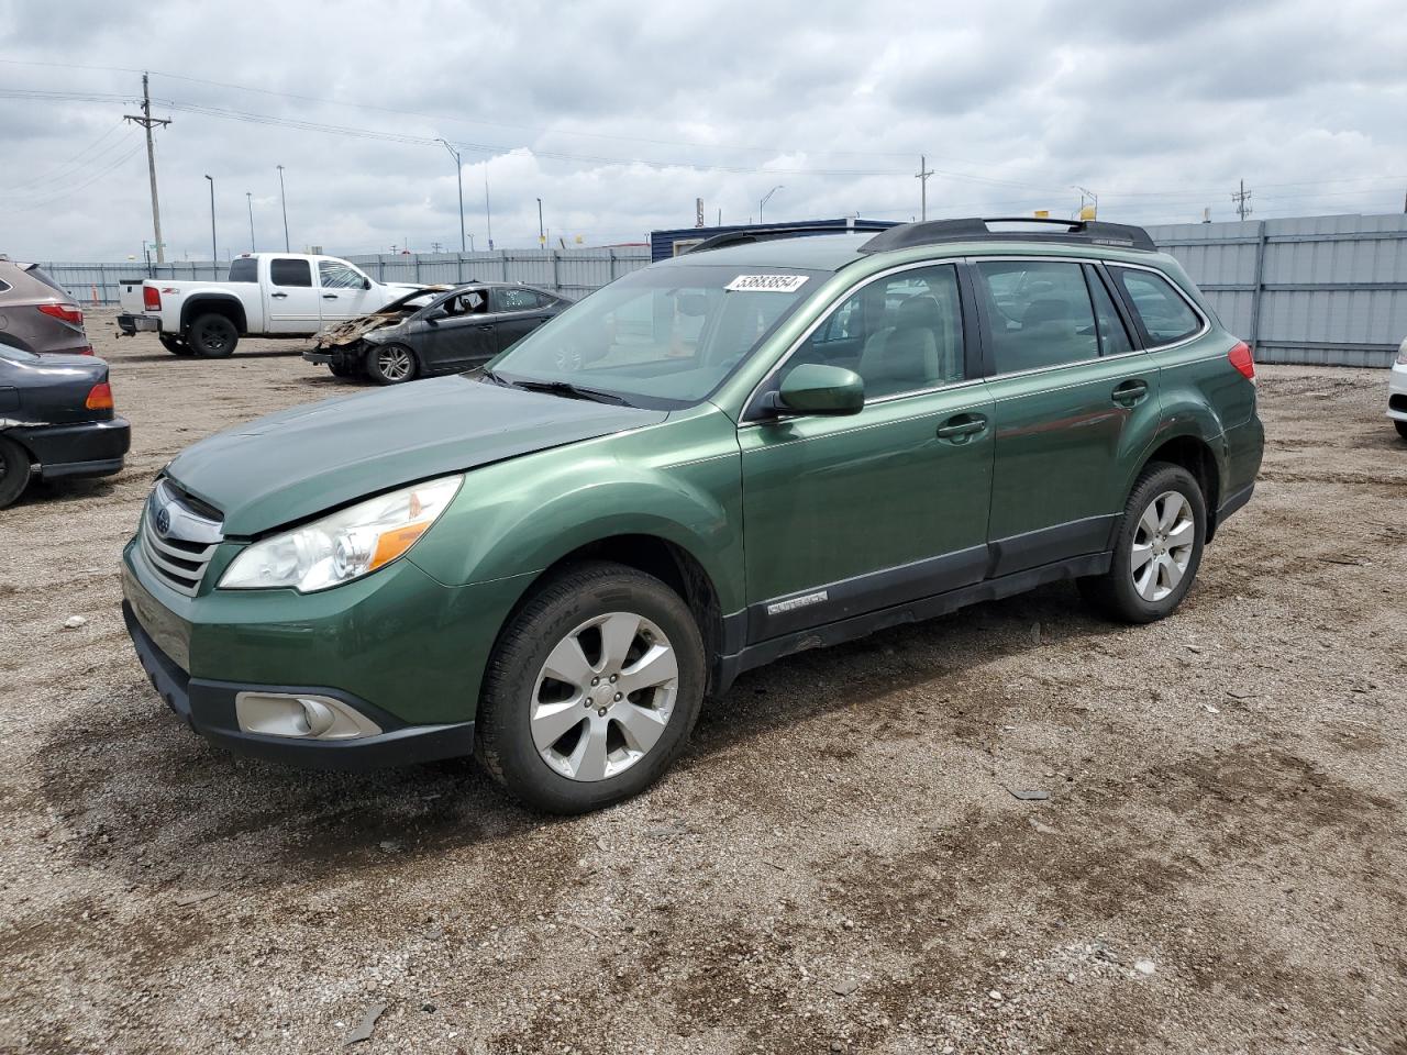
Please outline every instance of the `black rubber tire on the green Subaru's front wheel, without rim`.
M580 632L584 623L622 612L653 623L673 648L677 667L673 709L664 719L658 738L636 761L628 761L626 768L604 779L573 779L549 765L533 743L530 719L532 708L540 699L536 696L539 674L553 650L574 632ZM647 633L644 623L642 634ZM585 640L585 634L578 641ZM649 647L643 641L644 637L635 637L630 647ZM606 693L599 699L605 706L599 710L595 703L587 706L582 710L582 724L568 727L559 744L566 744L574 733L585 737L588 729L613 729L615 753L619 757L626 751L626 741L622 738L623 726L615 723L608 713L616 706L611 702L611 685L606 684L612 665L606 660L604 637L599 643L597 661L602 674L601 689ZM588 648L582 647L581 654L591 661ZM636 656L632 663L640 663L637 653L630 654ZM626 664L623 670L629 671L630 665ZM704 640L694 615L678 594L653 575L623 564L578 564L537 587L498 636L480 695L474 751L494 779L532 809L566 814L601 809L637 795L670 768L698 719L705 681ZM553 684L566 688L566 682ZM543 685L546 688L547 682ZM657 701L657 696L651 696L653 703ZM599 723L597 716L602 719ZM619 758L612 764L619 764Z

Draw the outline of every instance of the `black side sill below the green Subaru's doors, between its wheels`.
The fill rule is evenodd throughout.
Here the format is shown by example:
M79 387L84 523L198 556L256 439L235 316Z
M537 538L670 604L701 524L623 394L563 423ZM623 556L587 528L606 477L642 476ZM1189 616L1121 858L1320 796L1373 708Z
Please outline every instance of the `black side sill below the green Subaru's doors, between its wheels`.
M772 660L782 658L784 656L853 641L857 637L867 637L879 630L886 630L891 626L902 626L903 623L917 623L924 619L936 619L937 616L955 612L960 608L967 608L968 605L975 605L982 601L999 601L1016 594L1024 594L1026 591L1045 585L1047 582L1083 578L1085 575L1102 575L1109 571L1112 560L1113 554L1109 551L1089 553L1083 557L1071 557L1069 560L1041 564L1036 568L1026 568L1024 571L1002 575L1000 578L991 578L969 587L950 589L944 594L936 594L920 601L891 605L889 608L882 608L877 612L867 612L865 615L841 619L834 623L826 623L825 626L815 626L808 630L785 634L782 637L758 641L757 644L747 646L730 656L718 657L718 674L713 681L713 693L722 696L729 691L729 688L732 688L733 681L743 671L750 671L754 667L763 667ZM734 619L736 618L737 616L734 616ZM727 634L725 634L725 639L726 637Z

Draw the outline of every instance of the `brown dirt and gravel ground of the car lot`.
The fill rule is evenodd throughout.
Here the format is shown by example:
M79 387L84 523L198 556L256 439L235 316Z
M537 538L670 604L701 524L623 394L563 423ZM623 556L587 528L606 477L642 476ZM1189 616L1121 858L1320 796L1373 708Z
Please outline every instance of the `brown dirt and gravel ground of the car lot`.
M0 512L0 1051L328 1052L383 1009L353 1051L1407 1052L1382 371L1262 367L1259 490L1175 618L1058 585L789 658L651 792L547 820L165 708L118 612L152 475L349 384L89 329L128 467Z

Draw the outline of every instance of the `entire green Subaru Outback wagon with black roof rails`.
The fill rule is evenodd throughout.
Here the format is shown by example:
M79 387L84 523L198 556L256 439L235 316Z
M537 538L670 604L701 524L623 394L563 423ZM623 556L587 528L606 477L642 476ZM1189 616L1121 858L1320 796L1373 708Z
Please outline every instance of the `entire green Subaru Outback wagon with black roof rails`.
M1251 497L1251 352L1144 231L1031 226L723 235L203 440L124 553L142 665L231 748L573 813L789 653L1055 580L1161 619Z

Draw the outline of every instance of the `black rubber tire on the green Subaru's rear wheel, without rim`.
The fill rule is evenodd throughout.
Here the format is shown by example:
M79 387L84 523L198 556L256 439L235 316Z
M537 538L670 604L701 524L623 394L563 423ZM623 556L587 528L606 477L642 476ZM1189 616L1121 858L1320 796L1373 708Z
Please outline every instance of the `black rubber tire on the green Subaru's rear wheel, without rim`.
M1140 565L1145 570L1144 575L1151 574L1152 580L1150 581L1144 575L1140 575L1140 578L1150 582L1150 592L1157 595L1158 589L1162 588L1165 574L1157 567L1157 563L1164 561L1164 567L1171 575L1180 547L1159 542L1158 535L1150 536L1147 526L1141 528L1141 522L1150 506L1155 502L1164 502L1164 498L1169 494L1182 495L1190 512L1190 553L1186 554L1185 570L1180 571L1180 577L1171 585L1166 594L1150 598L1140 592L1135 581L1134 544L1140 539L1147 539L1148 550L1151 554L1157 554L1150 556L1148 563L1154 564L1152 568L1148 568L1147 564ZM1154 512L1157 512L1157 508ZM1128 502L1124 505L1123 520L1119 525L1119 533L1114 536L1114 557L1109 565L1109 571L1103 575L1090 575L1089 578L1079 580L1079 589L1086 601L1110 619L1126 623L1152 623L1164 619L1172 615L1178 605L1182 603L1182 598L1192 588L1192 582L1197 575L1197 567L1202 564L1202 549L1206 537L1207 505L1196 478L1182 466L1154 461L1140 474L1134 482L1133 492L1128 495ZM1144 549L1142 543L1140 543L1140 549Z

